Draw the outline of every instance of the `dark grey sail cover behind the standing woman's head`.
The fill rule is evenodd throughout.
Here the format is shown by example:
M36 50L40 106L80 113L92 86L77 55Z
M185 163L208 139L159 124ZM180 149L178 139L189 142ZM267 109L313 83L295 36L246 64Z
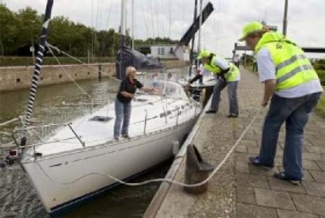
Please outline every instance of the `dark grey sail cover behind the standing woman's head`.
M122 63L120 71L120 60L122 52ZM122 46L116 55L116 76L118 79L125 78L125 69L128 66L134 66L137 71L150 69L164 69L165 66L152 57L148 57L139 53L139 51L132 50L127 46Z

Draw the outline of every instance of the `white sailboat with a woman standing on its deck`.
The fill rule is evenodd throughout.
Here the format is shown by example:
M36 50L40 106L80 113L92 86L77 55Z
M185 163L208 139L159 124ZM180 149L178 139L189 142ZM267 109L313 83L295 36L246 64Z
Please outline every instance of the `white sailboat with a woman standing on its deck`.
M130 140L113 140L114 105L106 105L25 148L21 166L49 213L115 185L105 174L128 179L173 155L173 144L191 131L200 105L176 82L160 84L162 95L141 93L133 101Z

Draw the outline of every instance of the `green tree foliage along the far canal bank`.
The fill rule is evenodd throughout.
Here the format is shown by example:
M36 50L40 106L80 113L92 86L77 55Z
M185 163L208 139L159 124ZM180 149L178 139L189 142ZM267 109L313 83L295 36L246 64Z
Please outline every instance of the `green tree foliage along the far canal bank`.
M30 46L37 48L43 17L30 7L12 12L0 3L0 55L30 56ZM114 29L95 30L62 16L51 19L47 41L79 57L113 57L121 46L120 34ZM129 46L132 43L128 33L125 42ZM177 44L177 41L159 37L134 40L135 48L140 44Z

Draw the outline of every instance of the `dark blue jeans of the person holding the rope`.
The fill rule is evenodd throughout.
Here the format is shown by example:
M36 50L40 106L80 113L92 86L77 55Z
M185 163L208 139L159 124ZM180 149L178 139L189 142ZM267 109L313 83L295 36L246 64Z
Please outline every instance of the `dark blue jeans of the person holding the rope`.
M304 140L304 127L321 94L313 93L300 98L281 98L273 95L263 125L259 154L261 163L274 165L279 130L283 122L286 122L283 168L286 174L302 179L301 150Z

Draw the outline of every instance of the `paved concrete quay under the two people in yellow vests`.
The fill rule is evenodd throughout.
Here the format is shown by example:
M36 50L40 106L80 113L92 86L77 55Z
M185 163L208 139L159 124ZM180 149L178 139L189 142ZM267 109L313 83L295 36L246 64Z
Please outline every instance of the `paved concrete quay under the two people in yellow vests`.
M218 165L259 109L263 84L255 74L240 69L240 116L227 118L227 91L222 91L220 110L197 121L186 144L193 143L203 158ZM208 104L209 107L209 104ZM304 138L304 181L292 185L272 174L282 168L285 129L281 128L276 167L263 170L248 163L258 154L266 109L253 123L238 147L211 181L207 192L187 194L179 185L161 183L144 217L325 217L325 119L310 116ZM186 156L181 149L166 178L184 182Z

